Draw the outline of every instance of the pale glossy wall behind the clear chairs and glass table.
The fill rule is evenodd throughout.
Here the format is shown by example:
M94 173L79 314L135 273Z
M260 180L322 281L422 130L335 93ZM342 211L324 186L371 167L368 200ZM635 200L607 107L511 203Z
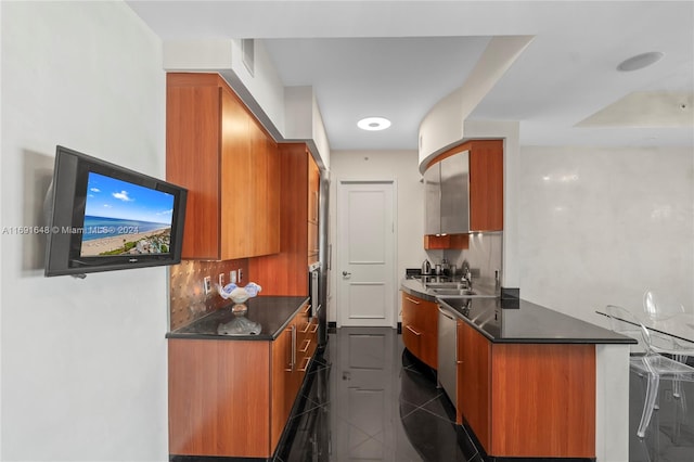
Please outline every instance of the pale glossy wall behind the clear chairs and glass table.
M646 287L694 309L694 151L522 146L520 297L605 325Z

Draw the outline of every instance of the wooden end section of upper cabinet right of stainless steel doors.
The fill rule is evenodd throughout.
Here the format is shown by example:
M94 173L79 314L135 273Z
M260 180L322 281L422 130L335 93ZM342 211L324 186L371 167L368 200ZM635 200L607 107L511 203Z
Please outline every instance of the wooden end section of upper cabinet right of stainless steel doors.
M503 141L472 141L470 150L470 229L503 230Z

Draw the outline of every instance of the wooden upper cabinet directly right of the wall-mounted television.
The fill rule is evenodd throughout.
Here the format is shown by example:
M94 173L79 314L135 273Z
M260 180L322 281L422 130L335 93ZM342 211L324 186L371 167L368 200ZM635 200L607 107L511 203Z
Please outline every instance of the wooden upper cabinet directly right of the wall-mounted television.
M278 146L216 74L168 74L166 177L188 188L183 258L280 252Z

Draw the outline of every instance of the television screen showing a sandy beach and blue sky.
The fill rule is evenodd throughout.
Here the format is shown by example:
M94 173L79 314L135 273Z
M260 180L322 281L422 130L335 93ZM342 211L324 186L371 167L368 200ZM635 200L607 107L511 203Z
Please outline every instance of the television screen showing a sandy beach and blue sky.
M174 195L89 172L82 257L168 254Z

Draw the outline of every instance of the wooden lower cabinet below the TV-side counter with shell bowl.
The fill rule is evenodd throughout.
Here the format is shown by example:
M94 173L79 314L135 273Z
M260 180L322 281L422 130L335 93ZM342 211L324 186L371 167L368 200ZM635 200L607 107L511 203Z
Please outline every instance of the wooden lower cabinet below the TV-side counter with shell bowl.
M169 338L169 453L270 458L317 345L307 306L274 341Z

